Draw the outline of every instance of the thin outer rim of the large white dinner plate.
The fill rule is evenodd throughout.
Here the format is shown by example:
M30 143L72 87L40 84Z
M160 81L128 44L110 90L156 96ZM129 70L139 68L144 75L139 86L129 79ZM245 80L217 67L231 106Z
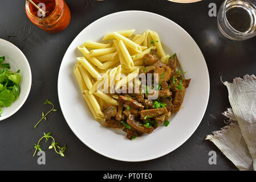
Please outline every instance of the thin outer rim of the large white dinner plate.
M172 22L172 23L176 24L176 26L180 27L181 30L184 31L185 34L187 34L188 37L193 40L193 42L196 44L197 48L200 50L200 52L201 52L201 54L202 54L202 57L204 58L204 61L205 61L205 57L204 57L204 55L203 55L203 53L202 53L200 47L197 45L196 41L192 38L192 36L190 36L189 33L184 30L184 28L182 28L182 27L181 27L180 25L178 25L176 22L173 22L173 20L170 20L169 18L166 18L165 16L162 16L162 15L159 15L159 14L156 14L156 13L152 13L152 12L149 12L149 11L140 11L140 10L118 11L118 12L116 12L116 13L111 13L111 14L102 16L101 18L96 19L94 22L88 24L88 26L84 27L83 30L80 31L78 35L76 35L76 37L74 38L74 40L72 40L72 42L70 43L70 46L68 46L68 48L67 48L67 50L66 50L66 52L65 52L65 54L64 54L64 56L63 56L63 59L64 59L64 57L66 56L66 54L67 54L67 52L68 52L68 49L70 49L71 45L75 42L76 39L78 39L78 37L80 36L80 34L82 34L82 32L83 32L84 30L86 30L87 27L91 26L92 24L98 22L99 20L101 20L101 19L103 19L103 18L107 18L108 16L112 16L112 15L114 15L114 14L136 13L136 12L138 12L138 13L147 13L147 14L152 14L152 15L155 15L155 16L159 16L160 18L164 18L164 19L168 20L169 22ZM60 97L59 97L59 89L60 89L59 77L60 77L60 73L61 73L61 71L62 71L62 69L63 69L63 66L62 66L62 65L63 65L63 59L62 59L62 63L60 64L60 69L59 69L59 74L58 74L58 98L59 98L59 104L60 104L60 109L61 109L61 110L62 110L63 106L62 106L62 104L61 104L62 102L60 101ZM209 96L210 96L210 77L209 77L209 71L208 71L208 66L207 66L207 64L206 64L206 61L205 61L205 68L206 68L206 70L207 70L207 78L208 78L208 79L207 79L207 80L208 80L208 85L207 85L208 88L207 88L207 90L206 90L208 97L207 97L206 106L205 106L205 109L204 109L204 114L202 114L201 117L200 117L200 118L201 118L201 119L200 119L200 122L198 122L197 126L195 127L195 129L193 130L193 132L190 134L190 136L189 136L187 139L184 139L184 140L181 142L181 144L179 144L179 145L178 145L177 147L175 147L173 150L167 151L167 152L163 152L163 153L161 153L161 154L159 154L159 155L155 155L155 156L153 156L153 157L151 157L151 158L142 159L142 160L128 160L128 159L125 160L125 159L114 158L114 157L112 157L112 156L105 155L105 154L104 154L103 152L101 152L101 151L96 151L96 150L94 149L94 147L90 146L89 144L86 144L85 142L83 142L83 140L82 140L78 135L76 135L76 133L74 132L74 129L72 128L72 126L70 125L70 123L68 123L68 121L67 121L67 119L66 119L66 116L65 116L65 114L63 113L63 111L62 111L62 114L63 114L63 117L64 117L64 119L66 120L68 126L70 127L71 131L75 134L75 136L76 136L82 143L84 143L88 148L90 148L91 150L97 152L97 153L100 154L100 155L103 155L103 156L105 156L105 157L107 157L107 158L110 158L110 159L123 161L123 162L144 162L144 161L148 161L148 160L157 159L157 158L160 158L160 157L162 157L162 156L164 156L164 155L166 155L166 154L169 154L170 152L176 150L178 147L182 146L182 144L184 144L184 143L186 142L186 140L188 140L188 139L194 134L194 132L197 130L198 126L199 126L200 123L202 122L202 118L204 118L205 111L206 111L206 109L207 109L207 107L208 107Z

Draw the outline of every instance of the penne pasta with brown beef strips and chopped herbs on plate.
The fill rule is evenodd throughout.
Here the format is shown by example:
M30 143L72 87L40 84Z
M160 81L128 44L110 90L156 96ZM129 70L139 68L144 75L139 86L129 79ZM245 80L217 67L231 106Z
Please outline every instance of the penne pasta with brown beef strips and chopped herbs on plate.
M176 53L165 54L156 32L134 32L109 32L105 43L84 42L74 67L94 118L105 127L122 129L128 139L168 126L190 82L176 68Z

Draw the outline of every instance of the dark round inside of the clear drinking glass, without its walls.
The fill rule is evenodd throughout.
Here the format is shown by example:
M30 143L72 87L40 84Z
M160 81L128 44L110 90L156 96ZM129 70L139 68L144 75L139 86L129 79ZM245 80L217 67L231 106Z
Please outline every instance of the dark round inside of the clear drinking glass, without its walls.
M226 12L227 20L231 27L239 32L246 32L250 28L251 18L246 10L233 7Z

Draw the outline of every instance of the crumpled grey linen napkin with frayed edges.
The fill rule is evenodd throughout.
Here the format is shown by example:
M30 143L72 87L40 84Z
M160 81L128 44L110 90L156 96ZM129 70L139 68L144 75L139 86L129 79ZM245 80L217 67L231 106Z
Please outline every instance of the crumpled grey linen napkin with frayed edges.
M206 139L216 144L239 170L256 170L256 77L246 75L224 85L232 107L224 115L232 122Z

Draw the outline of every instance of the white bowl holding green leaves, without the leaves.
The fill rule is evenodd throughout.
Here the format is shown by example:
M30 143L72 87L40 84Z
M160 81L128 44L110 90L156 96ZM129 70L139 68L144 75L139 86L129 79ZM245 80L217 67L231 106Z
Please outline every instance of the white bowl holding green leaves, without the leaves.
M19 73L22 76L21 92L19 98L11 103L10 107L2 107L3 113L1 114L0 121L6 119L16 113L29 96L31 88L31 70L29 62L22 51L14 46L14 44L0 39L0 56L5 56L4 63L10 63L11 71L21 70Z

